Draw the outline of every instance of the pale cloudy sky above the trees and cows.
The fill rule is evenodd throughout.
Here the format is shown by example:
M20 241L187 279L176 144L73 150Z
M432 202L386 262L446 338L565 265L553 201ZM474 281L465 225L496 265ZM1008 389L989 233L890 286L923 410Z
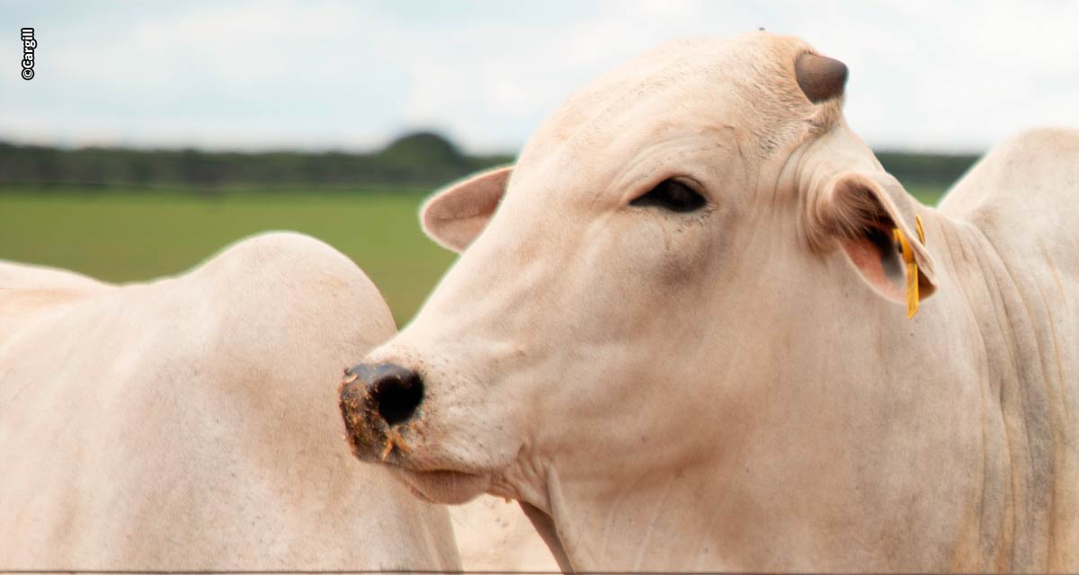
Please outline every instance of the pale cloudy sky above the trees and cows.
M629 57L760 27L847 64L847 121L876 149L1079 127L1076 1L0 0L0 140L358 151L435 129L513 153Z

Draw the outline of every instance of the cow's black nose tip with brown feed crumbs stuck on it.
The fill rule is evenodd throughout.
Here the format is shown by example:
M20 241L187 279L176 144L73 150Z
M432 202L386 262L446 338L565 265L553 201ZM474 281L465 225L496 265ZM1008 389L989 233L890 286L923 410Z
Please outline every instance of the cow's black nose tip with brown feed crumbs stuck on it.
M423 401L419 373L394 364L360 364L345 370L340 394L341 416L356 457L385 461L394 452L408 454L398 427Z

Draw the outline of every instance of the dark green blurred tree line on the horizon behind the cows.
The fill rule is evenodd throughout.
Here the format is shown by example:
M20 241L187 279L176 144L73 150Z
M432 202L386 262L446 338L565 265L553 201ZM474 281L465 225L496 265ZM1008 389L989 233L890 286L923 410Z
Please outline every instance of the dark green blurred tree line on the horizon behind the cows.
M947 186L978 159L910 152L877 158L904 183ZM127 186L214 192L250 188L439 186L473 172L505 165L511 155L470 155L447 138L419 132L370 153L207 152L125 148L60 149L0 142L0 189L25 184Z

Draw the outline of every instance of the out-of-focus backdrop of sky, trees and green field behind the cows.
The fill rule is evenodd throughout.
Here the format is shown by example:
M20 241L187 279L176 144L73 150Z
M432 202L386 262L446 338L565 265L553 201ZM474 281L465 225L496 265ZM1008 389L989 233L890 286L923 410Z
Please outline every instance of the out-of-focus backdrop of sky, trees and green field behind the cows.
M133 282L298 230L401 325L453 260L426 194L628 57L759 27L848 65L849 124L925 203L1007 135L1079 126L1063 0L0 1L0 259Z

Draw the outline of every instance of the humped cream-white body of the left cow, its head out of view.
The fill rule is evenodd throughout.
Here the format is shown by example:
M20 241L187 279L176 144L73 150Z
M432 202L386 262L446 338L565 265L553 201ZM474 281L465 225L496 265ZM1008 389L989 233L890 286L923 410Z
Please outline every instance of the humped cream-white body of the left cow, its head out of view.
M394 331L347 258L268 234L92 291L0 346L0 566L459 565L446 510L341 439L341 369Z

